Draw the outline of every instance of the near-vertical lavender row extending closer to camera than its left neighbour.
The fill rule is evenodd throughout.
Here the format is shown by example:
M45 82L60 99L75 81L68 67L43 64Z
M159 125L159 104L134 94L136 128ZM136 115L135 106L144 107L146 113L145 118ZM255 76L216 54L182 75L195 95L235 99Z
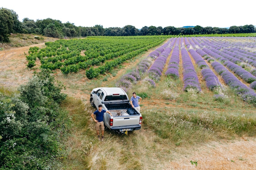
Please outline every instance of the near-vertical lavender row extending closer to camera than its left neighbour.
M192 89L195 89L197 92L200 92L201 86L198 81L196 71L188 55L188 52L185 48L181 49L181 57L182 57L183 81L184 81L183 90L187 92L188 89L192 88Z

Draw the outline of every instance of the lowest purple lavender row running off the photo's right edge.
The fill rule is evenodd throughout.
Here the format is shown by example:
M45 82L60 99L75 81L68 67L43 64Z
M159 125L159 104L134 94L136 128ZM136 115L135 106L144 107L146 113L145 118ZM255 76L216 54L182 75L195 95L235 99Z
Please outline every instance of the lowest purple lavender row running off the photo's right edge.
M211 65L214 70L221 75L225 83L231 87L237 95L241 96L244 101L256 103L256 94L251 88L244 85L219 62L212 62Z

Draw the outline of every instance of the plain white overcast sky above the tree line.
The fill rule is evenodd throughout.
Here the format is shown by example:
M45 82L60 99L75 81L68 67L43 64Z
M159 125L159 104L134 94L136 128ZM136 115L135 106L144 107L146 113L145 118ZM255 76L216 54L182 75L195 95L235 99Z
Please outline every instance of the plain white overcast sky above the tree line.
M60 20L75 26L256 26L251 0L1 0L0 7L24 18Z

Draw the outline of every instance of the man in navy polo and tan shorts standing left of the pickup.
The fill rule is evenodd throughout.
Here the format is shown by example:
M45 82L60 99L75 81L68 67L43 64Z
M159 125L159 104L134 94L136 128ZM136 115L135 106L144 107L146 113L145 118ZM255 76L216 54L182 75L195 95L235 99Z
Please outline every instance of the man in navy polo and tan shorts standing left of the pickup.
M98 135L98 139L100 140L100 134L99 134L99 130L101 130L101 141L104 140L104 122L103 122L103 115L104 113L108 113L110 116L112 116L112 114L109 111L106 111L104 109L102 109L102 105L99 105L99 109L96 110L95 112L92 113L92 119L94 120L94 122L96 122L95 128L97 131L97 135ZM96 120L94 118L94 115L96 115Z

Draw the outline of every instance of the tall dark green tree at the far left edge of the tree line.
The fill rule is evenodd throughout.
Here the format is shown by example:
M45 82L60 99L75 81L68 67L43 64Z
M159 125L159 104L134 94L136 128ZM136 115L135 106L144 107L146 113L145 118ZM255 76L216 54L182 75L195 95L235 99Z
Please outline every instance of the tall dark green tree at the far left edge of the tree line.
M10 42L10 34L13 32L13 16L11 10L0 9L0 42Z

